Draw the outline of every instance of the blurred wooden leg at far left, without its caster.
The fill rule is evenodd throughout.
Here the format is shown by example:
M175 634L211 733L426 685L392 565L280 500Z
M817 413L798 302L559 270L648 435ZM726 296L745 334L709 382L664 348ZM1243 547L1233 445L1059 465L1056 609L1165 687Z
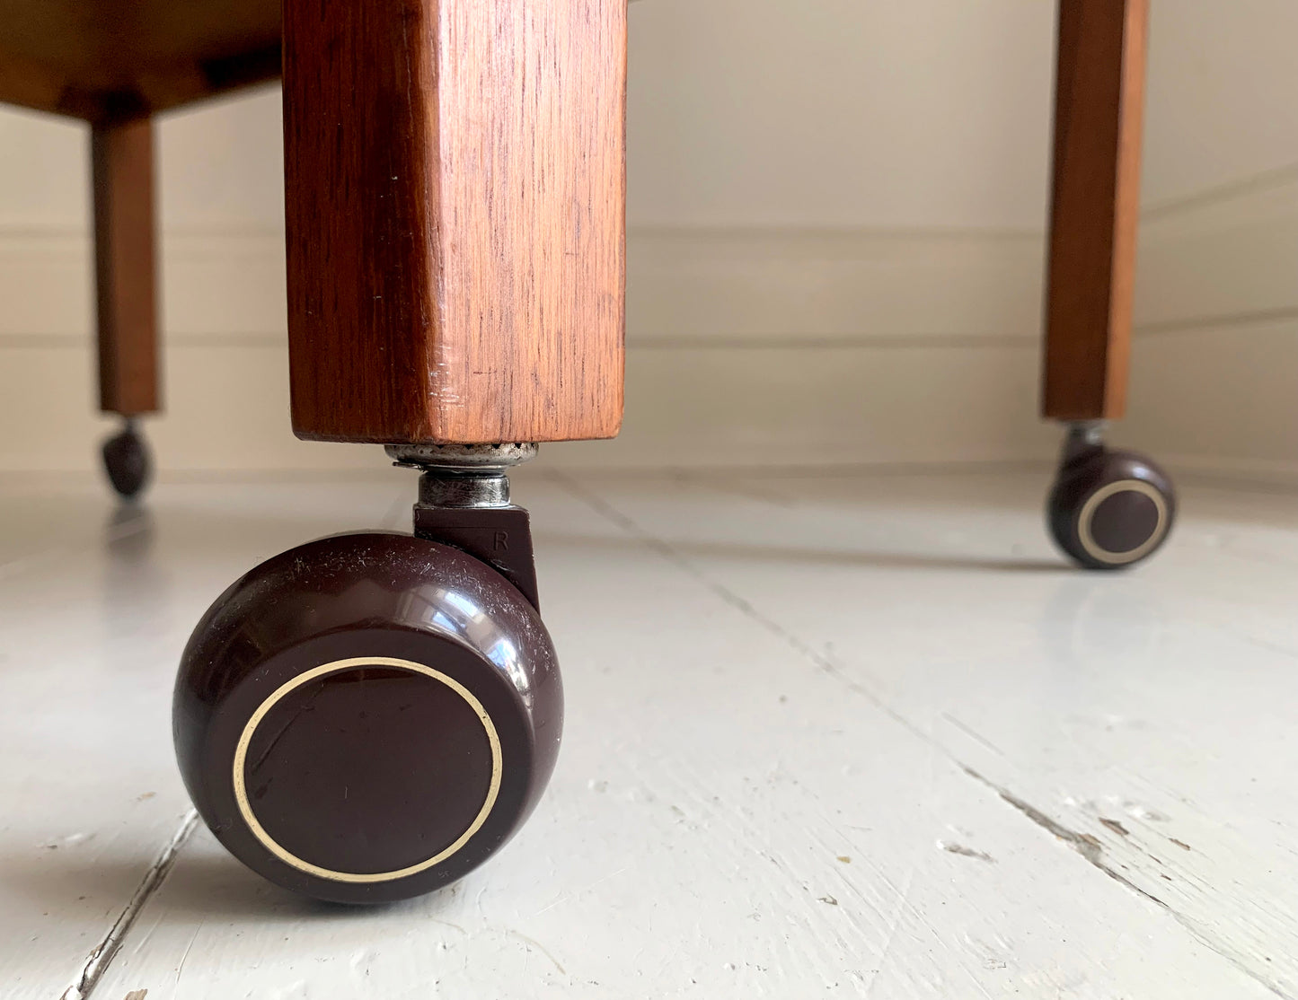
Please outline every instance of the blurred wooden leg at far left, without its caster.
M96 126L91 169L100 409L126 416L153 412L158 409L153 123Z

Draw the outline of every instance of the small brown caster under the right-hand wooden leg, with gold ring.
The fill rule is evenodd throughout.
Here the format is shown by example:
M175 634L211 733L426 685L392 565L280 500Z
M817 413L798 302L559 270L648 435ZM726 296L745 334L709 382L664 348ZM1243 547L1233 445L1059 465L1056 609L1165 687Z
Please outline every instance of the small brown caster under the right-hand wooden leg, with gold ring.
M1176 518L1172 481L1132 451L1107 449L1092 427L1075 428L1047 501L1050 533L1088 569L1123 569L1167 541Z

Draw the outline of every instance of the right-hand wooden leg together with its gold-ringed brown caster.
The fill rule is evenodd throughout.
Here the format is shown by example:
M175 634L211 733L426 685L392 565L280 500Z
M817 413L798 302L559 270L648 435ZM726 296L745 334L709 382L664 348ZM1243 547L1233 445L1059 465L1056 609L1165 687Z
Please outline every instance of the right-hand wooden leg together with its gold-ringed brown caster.
M1042 410L1068 427L1046 503L1090 569L1155 553L1176 516L1154 462L1103 442L1127 406L1147 0L1060 0Z

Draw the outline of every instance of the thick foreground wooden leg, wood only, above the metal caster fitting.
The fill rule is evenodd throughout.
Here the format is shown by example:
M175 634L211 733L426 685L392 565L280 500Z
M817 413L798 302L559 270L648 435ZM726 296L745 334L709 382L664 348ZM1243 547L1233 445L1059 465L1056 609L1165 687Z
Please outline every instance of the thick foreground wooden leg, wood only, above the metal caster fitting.
M622 0L287 0L299 437L611 437Z

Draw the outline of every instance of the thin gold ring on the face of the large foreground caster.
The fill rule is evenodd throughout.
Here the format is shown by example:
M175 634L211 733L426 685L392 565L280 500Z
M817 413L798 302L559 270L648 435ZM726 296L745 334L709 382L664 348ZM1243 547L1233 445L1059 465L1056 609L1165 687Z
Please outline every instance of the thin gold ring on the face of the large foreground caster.
M432 857L419 861L418 864L409 865L408 868L398 868L395 872L373 872L373 873L357 873L357 872L334 872L328 868L321 868L319 865L313 865L310 861L305 861L293 853L286 851L275 839L266 833L262 825L257 821L257 816L252 811L252 803L248 800L248 789L244 780L244 765L248 759L248 744L252 743L253 733L257 732L257 726L266 713L275 707L286 694L300 687L304 684L314 681L317 677L323 677L330 673L337 673L340 671L348 671L357 667L392 667L400 671L410 671L411 673L422 673L424 677L431 677L435 681L440 681L447 685L450 690L458 694L469 707L474 709L478 719L483 724L483 729L487 732L487 742L491 744L491 785L487 789L487 798L483 802L482 809L478 811L478 816L474 821L469 824L469 829L465 830L459 837L456 838L454 843L443 848ZM334 660L332 663L326 663L321 667L314 667L304 673L297 674L293 680L282 684L271 695L262 702L257 711L252 713L248 724L244 726L243 733L239 737L239 744L235 747L235 764L234 764L234 778L235 778L235 800L239 803L239 812L243 815L244 822L248 824L248 829L252 830L253 835L261 842L261 844L270 851L275 857L287 865L306 872L308 874L315 875L318 878L330 878L335 882L391 882L396 878L406 878L408 875L418 874L419 872L426 872L434 865L439 865L450 857L453 853L459 851L470 838L482 829L482 825L487 822L487 817L491 815L492 807L496 804L496 796L500 795L500 778L501 778L501 751L500 751L500 735L496 733L496 725L492 722L491 716L487 709L483 708L482 702L479 702L472 691L465 687L454 677L448 677L441 671L435 671L431 667L424 667L422 663L414 663L413 660L400 660L392 656L354 656L348 660Z

